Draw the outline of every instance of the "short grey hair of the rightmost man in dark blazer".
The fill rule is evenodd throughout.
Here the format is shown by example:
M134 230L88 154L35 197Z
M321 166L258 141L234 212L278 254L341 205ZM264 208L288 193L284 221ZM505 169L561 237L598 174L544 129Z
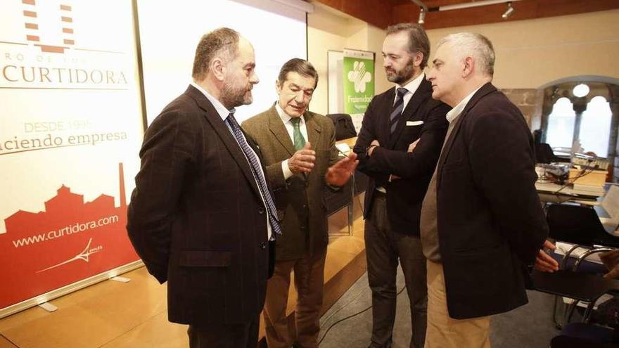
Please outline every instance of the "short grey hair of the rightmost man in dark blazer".
M459 32L440 39L437 48L447 43L457 47L454 52L461 58L473 57L479 70L485 75L494 75L494 48L487 37L474 32Z

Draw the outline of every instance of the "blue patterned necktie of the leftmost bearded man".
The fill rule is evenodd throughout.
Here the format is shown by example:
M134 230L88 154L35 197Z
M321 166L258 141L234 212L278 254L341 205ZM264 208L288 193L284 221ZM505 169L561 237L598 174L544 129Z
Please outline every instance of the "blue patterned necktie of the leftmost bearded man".
M264 197L264 201L267 203L267 210L269 212L269 222L271 223L271 228L276 234L281 234L281 227L277 221L277 210L275 208L275 204L273 202L273 198L271 198L271 194L269 193L269 188L267 188L267 181L264 180L264 174L262 174L262 168L260 168L260 162L258 161L256 155L253 150L249 147L247 141L243 137L243 132L241 131L241 126L238 125L236 119L234 118L234 114L228 115L226 118L232 132L234 133L234 138L236 138L236 142L238 146L241 146L241 150L245 153L245 157L249 160L250 167L254 174L254 178L258 182L258 187L260 188L260 192L262 193L262 197Z

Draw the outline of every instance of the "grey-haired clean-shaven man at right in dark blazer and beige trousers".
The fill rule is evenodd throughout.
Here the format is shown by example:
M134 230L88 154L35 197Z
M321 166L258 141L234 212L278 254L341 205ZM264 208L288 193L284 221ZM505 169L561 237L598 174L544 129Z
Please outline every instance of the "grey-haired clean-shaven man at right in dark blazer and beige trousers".
M492 86L493 72L492 44L471 33L442 39L428 72L433 98L453 109L421 212L426 348L490 347L490 316L527 303L527 266L557 269L540 250L552 245L544 241L532 136Z

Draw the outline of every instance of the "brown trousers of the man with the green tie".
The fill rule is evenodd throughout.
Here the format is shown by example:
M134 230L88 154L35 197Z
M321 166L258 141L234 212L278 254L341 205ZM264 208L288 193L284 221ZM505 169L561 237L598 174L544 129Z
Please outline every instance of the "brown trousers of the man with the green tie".
M275 262L275 272L267 282L264 329L269 348L318 348L320 309L324 287L326 249L301 259ZM291 271L295 273L297 304L295 318L286 316Z

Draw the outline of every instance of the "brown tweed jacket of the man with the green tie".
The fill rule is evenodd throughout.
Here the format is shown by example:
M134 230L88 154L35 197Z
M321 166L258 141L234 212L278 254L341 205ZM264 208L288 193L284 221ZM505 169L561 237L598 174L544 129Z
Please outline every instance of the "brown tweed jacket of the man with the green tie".
M257 143L264 157L267 176L274 192L275 205L283 230L276 240L276 259L298 259L324 250L328 244L328 228L324 190L324 174L337 162L335 127L323 115L305 112L307 138L316 151L316 162L309 174L293 174L283 179L281 162L295 153L286 127L275 106L243 122L243 129Z

